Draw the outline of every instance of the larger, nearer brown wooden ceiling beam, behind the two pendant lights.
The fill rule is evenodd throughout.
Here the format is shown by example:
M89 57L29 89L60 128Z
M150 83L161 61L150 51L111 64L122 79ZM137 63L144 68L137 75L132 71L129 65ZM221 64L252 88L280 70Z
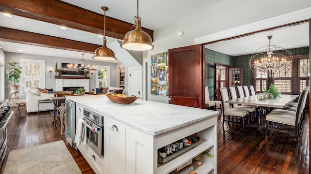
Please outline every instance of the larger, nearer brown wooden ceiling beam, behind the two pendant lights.
M59 0L0 0L0 12L104 35L104 15ZM122 39L132 27L106 16L106 36ZM153 40L154 31L142 29Z

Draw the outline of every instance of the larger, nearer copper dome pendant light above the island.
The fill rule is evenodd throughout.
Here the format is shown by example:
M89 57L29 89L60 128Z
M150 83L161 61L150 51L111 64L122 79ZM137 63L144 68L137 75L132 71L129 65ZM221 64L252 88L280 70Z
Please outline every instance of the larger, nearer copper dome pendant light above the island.
M138 0L137 0L137 16L134 17L135 29L127 32L120 44L122 48L133 51L147 51L154 48L152 39L148 33L141 30L141 19L138 17Z

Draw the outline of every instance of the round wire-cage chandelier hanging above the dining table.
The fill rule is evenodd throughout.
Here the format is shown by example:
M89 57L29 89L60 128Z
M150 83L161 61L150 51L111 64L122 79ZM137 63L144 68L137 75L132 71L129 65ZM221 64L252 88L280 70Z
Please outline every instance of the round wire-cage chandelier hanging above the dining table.
M282 76L292 68L293 55L287 49L271 44L271 38L272 36L268 36L269 45L254 52L249 66L254 73L262 72L266 77L275 77L275 74ZM283 50L284 55L276 53L276 50Z

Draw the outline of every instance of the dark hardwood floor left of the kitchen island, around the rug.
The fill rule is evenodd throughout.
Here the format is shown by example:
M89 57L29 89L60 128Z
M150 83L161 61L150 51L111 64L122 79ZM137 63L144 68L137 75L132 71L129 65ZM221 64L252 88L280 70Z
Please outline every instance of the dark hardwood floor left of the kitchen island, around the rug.
M58 129L54 129L53 116L49 111L26 114L24 110L17 111L17 107L11 110L15 111L15 116L11 118L7 127L7 155L0 168L0 174L3 174L11 150L65 140L65 137L60 134L59 126ZM81 153L70 147L66 141L64 142L82 174L95 174Z

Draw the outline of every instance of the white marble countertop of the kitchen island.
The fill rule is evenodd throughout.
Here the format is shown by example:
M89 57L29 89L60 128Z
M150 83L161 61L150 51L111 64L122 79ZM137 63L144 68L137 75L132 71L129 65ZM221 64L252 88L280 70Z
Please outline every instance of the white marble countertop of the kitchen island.
M67 96L66 98L150 135L173 131L219 114L218 111L141 99L131 104L119 104L111 102L105 95Z

